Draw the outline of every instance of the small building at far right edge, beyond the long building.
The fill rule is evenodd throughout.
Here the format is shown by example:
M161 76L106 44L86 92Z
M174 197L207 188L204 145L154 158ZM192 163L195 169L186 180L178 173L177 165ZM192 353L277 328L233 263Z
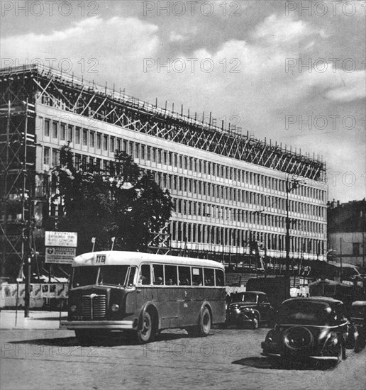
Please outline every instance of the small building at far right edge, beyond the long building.
M328 202L328 260L365 268L366 200Z

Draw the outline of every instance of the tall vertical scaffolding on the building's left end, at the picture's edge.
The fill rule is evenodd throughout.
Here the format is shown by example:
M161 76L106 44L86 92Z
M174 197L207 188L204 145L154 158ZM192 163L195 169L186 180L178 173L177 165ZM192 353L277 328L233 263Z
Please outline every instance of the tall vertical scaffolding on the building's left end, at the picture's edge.
M0 84L1 275L21 273L30 250L35 167L34 89L9 74Z

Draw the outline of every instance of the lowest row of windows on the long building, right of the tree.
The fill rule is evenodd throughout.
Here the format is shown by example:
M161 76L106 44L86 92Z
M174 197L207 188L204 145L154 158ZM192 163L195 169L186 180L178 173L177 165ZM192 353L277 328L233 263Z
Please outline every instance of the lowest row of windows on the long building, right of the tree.
M256 241L269 250L286 250L285 235L265 233L257 230L223 228L222 226L201 225L173 221L171 223L172 241L182 243L203 243L208 245L224 245L229 247L249 247ZM306 237L290 237L290 251L297 253L323 253L324 240Z

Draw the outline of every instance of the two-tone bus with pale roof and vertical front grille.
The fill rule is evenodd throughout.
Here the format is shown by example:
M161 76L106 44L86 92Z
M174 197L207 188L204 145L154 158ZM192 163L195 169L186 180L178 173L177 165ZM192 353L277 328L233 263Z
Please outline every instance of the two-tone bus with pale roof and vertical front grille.
M140 343L163 329L206 336L225 321L223 264L140 252L103 251L75 257L67 321L80 340L128 331Z

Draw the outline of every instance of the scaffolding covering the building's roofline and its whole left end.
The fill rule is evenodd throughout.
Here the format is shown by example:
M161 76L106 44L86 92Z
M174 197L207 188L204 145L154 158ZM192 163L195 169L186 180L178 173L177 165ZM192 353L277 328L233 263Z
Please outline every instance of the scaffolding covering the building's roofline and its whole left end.
M37 105L59 108L88 121L102 121L173 143L187 145L235 160L275 169L314 182L326 179L326 164L287 147L257 140L240 128L202 115L184 115L129 96L107 86L78 79L65 72L25 65L0 69L0 164L1 164L1 256L6 264L22 264L25 256L24 229L33 219L37 184L35 172L35 111ZM45 184L46 185L46 184ZM45 187L42 184L43 188ZM44 190L42 190L44 192ZM42 192L41 191L41 192ZM43 198L47 194L42 194ZM149 243L153 252L167 253L168 228L156 233ZM10 260L16 260L11 262Z

